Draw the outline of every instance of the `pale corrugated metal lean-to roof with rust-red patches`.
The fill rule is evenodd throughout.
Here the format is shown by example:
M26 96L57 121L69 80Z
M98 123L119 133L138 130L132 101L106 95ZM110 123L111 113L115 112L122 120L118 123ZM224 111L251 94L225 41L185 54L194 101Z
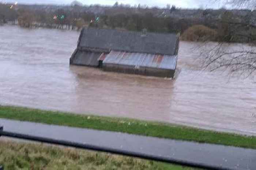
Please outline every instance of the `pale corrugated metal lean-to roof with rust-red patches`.
M177 56L111 51L103 63L134 65L135 68L152 67L174 70L176 69Z

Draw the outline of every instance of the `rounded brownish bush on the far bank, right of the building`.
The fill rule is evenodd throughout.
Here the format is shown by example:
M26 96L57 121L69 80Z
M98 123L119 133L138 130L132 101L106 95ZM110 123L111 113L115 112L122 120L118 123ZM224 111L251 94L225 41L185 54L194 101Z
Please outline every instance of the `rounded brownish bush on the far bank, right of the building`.
M184 41L215 41L216 37L217 31L203 25L189 27L181 35Z

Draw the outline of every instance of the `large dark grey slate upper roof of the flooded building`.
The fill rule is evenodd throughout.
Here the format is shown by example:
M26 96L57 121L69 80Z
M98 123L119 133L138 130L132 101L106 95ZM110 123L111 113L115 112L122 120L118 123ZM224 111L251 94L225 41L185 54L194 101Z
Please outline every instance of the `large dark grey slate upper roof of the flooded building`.
M178 41L176 34L147 33L145 36L139 32L84 28L78 48L176 55Z

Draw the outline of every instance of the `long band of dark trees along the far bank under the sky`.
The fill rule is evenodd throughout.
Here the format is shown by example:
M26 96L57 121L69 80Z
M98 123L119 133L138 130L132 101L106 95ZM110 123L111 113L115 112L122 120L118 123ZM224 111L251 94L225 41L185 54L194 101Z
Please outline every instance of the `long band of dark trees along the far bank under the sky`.
M73 10L57 9L31 10L19 8L14 10L10 5L0 4L0 22L18 19L22 27L31 27L33 22L50 24L68 24L82 28L98 27L158 33L181 33L187 41L222 41L222 42L255 42L256 26L251 23L251 15L237 16L226 10L218 19L203 13L202 18L159 17L151 12L143 14L106 14L96 15L91 12L80 12L79 6ZM174 9L170 9L172 12Z

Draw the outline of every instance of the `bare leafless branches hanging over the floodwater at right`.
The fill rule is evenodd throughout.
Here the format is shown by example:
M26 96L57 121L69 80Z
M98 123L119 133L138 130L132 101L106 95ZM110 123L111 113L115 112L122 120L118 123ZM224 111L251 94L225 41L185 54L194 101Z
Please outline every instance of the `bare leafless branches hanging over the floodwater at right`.
M205 47L207 46L207 48ZM207 43L201 49L204 68L240 73L246 77L256 72L256 48L244 44Z

